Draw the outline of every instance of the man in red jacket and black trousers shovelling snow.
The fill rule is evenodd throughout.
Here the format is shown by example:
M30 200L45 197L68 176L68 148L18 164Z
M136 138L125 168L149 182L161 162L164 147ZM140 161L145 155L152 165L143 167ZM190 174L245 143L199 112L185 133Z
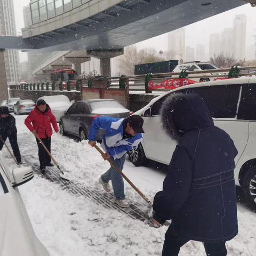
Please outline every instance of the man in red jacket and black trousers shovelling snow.
M46 148L51 152L51 136L52 127L55 132L58 132L58 125L55 116L52 114L51 108L46 104L44 100L38 100L37 105L32 110L28 117L25 119L25 124L29 131L37 134L38 137L43 141ZM41 145L41 143L36 139L38 146L38 156L40 162L40 170L45 171L46 166L53 166L51 163L51 158Z

